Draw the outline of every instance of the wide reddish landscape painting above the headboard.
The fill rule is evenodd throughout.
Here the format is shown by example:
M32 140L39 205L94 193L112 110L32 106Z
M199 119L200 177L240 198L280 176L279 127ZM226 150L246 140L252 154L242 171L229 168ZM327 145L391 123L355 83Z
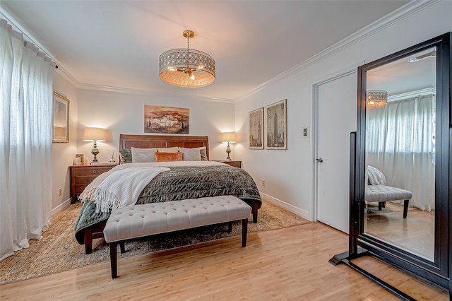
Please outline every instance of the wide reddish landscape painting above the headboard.
M189 134L190 109L182 107L144 106L144 132Z

